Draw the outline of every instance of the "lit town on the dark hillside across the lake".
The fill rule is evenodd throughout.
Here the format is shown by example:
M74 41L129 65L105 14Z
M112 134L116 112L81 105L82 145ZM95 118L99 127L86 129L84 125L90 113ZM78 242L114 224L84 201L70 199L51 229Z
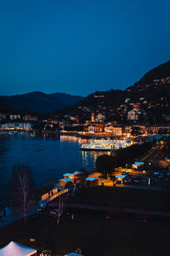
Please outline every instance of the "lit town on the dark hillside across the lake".
M163 65L167 67L167 63ZM139 83L126 90L97 91L81 101L77 98L75 105L51 113L36 113L36 107L34 113L30 111L29 104L35 105L35 102L30 102L29 94L23 95L27 99L27 107L22 105L25 106L22 110L13 110L15 104L8 99L9 104L12 105L10 108L7 106L1 108L0 130L68 133L83 137L169 134L170 77L154 79L152 76L150 79L150 76L149 78L147 76L149 75L146 74ZM42 98L42 93L36 92L35 99L38 99L39 94ZM14 96L11 97L13 102L16 102ZM76 101L75 97L74 101ZM23 104L23 97L17 96L17 101ZM41 104L45 106L46 102L45 98L44 103Z

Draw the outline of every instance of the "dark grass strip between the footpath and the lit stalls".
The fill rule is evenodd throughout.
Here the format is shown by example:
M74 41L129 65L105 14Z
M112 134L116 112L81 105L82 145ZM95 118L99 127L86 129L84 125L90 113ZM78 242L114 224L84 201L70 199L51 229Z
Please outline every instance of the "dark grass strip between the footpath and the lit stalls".
M170 191L151 189L128 189L113 187L91 187L71 198L70 201L127 207L139 207L158 211L170 210Z

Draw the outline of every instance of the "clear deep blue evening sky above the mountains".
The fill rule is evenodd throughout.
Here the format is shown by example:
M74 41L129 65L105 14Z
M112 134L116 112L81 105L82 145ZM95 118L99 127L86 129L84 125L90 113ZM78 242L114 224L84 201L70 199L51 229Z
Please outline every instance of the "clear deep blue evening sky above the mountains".
M169 61L165 0L0 0L0 95L124 89Z

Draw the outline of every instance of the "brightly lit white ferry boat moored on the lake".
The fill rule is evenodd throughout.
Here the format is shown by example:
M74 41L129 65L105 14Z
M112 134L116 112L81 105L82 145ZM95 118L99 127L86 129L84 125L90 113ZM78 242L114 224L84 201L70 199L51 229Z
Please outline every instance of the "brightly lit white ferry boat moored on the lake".
M90 143L82 144L82 150L113 151L119 148L127 148L132 145L129 140L91 140Z

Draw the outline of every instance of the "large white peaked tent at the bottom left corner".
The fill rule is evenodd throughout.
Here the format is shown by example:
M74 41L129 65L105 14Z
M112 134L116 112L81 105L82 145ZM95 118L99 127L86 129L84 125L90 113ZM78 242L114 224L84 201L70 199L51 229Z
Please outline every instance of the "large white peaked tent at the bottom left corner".
M15 241L9 242L6 247L0 249L0 256L31 256L35 253L37 250Z

